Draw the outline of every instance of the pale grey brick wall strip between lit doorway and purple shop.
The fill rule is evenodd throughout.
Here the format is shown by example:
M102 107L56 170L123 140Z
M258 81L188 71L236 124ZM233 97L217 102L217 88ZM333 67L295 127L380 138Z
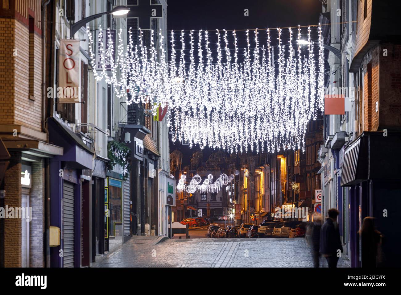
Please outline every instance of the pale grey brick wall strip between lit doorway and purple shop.
M32 187L29 206L32 220L29 223L29 260L30 267L44 267L45 235L45 167L44 161L32 163Z

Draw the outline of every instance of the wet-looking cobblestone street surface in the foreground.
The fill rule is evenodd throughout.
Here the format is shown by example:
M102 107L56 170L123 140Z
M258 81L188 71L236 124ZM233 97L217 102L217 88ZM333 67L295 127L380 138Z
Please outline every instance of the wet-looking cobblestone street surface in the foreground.
M133 237L93 267L313 267L304 238L176 239ZM323 267L327 267L321 258ZM349 267L340 258L338 267Z

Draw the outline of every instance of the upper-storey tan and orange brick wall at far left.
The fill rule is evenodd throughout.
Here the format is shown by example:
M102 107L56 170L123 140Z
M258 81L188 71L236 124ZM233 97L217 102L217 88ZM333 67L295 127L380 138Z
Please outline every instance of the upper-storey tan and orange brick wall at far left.
M18 124L41 131L42 38L37 32L31 34L30 38L26 24L0 18L0 124ZM34 100L29 99L30 72Z

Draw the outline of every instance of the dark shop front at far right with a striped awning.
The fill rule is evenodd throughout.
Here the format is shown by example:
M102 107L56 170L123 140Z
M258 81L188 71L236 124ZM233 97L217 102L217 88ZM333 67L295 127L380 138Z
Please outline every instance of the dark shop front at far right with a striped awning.
M401 206L401 160L392 157L401 146L401 133L363 132L344 151L341 186L349 187L349 257L351 267L363 267L361 240L358 231L363 219L375 218L375 226L385 237L383 252L391 257L381 266L396 267L401 262L398 244L399 234L393 230L399 222L398 208ZM383 157L383 155L389 155Z

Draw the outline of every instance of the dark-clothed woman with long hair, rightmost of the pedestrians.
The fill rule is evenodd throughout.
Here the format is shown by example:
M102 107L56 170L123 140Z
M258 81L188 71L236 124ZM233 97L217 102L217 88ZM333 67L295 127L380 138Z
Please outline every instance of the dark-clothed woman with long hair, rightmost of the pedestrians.
M362 228L358 232L362 237L362 267L377 267L377 247L382 238L381 232L376 230L375 218L365 217L363 219Z

